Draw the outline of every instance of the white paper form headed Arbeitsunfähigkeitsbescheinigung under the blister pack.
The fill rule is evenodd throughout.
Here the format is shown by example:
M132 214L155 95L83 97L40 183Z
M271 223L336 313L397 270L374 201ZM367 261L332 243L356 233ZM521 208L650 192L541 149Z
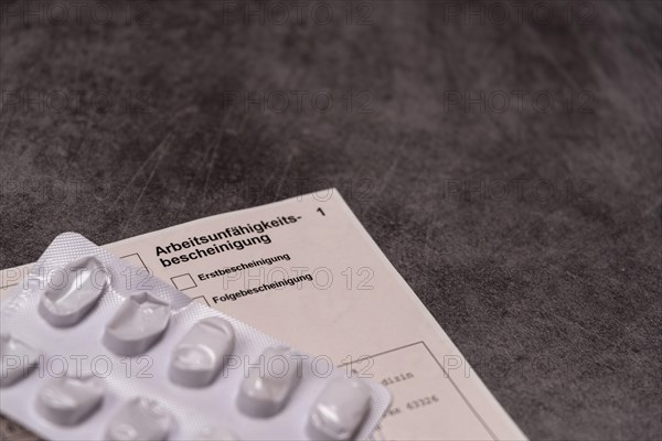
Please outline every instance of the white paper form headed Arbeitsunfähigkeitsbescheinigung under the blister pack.
M338 191L106 245L191 298L381 381L376 440L525 439ZM26 267L0 273L3 292ZM444 295L439 292L438 295Z

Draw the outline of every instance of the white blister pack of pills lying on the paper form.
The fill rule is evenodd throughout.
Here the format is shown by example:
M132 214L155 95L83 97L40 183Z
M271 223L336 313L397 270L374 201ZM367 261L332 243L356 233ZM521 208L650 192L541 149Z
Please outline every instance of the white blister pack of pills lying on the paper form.
M0 319L0 410L46 439L367 439L391 402L73 233Z

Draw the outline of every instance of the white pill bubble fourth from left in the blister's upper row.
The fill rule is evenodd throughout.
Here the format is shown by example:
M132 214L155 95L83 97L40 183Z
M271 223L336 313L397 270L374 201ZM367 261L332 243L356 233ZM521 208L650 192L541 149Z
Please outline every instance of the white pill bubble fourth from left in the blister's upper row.
M287 346L265 349L248 376L242 380L238 408L246 415L267 418L287 404L301 378L301 358Z

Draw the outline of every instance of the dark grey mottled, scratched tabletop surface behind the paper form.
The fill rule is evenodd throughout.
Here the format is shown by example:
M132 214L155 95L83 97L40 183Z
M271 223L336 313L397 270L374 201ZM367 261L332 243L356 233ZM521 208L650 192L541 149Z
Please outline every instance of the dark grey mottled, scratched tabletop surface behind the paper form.
M0 267L335 186L527 435L662 438L659 2L82 3L1 3Z

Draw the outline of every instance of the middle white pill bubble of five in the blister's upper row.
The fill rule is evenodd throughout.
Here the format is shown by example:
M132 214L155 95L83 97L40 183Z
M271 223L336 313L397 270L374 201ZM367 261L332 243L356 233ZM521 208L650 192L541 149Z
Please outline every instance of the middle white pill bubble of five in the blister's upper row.
M170 379L186 387L211 384L232 354L235 333L228 321L210 318L193 325L178 343L170 361Z

